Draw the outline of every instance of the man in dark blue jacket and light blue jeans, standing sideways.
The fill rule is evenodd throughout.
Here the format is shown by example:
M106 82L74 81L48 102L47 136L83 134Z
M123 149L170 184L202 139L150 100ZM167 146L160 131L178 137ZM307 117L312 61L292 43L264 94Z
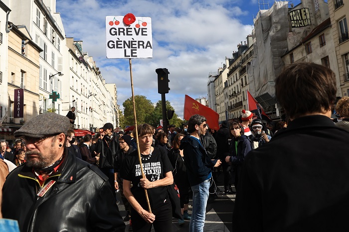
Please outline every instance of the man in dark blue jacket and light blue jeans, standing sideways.
M180 141L179 149L183 150L184 164L193 192L189 232L203 231L211 170L221 164L219 159L211 160L203 147L202 136L207 129L206 118L194 114L188 121L187 131L190 135Z

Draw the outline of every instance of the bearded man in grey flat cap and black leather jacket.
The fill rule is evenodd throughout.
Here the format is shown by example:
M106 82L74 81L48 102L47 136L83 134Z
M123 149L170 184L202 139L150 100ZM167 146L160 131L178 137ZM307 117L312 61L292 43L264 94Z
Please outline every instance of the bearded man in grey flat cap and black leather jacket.
M69 119L40 114L14 132L26 146L26 162L2 189L2 215L20 231L125 231L107 177L65 147Z

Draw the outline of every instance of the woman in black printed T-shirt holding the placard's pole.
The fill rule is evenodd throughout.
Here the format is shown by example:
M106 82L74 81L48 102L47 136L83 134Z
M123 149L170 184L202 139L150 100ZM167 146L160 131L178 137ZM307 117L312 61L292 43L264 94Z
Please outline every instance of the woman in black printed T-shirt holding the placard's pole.
M153 127L142 124L137 126L137 131L146 178L142 177L138 151L125 157L123 168L120 171L120 175L124 179L124 194L132 205L132 229L135 232L149 232L154 225L155 231L169 232L172 228L172 206L166 186L174 182L173 167L167 154L151 146L154 134ZM133 131L133 136L136 138L136 130ZM144 189L148 191L152 213L147 210Z

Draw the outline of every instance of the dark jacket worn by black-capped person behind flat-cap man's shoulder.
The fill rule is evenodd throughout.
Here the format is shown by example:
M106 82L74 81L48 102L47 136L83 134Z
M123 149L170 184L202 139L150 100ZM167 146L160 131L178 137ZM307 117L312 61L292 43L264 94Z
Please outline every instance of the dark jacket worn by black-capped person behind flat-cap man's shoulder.
M99 155L100 168L114 168L114 159L119 151L119 134L113 132L112 139L109 140L105 135L101 144L101 153Z

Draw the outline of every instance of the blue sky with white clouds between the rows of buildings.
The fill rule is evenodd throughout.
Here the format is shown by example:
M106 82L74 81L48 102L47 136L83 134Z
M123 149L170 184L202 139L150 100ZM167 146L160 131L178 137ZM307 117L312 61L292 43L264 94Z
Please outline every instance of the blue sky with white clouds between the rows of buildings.
M263 3L263 0L259 0ZM290 1L297 5L300 0ZM152 102L158 93L158 68L170 72L166 94L178 116L183 116L184 95L207 97L207 77L231 58L252 33L253 18L268 0L56 0L66 37L83 41L106 83L116 83L118 104L132 96L128 59L106 58L105 16L152 18L153 58L132 59L135 95ZM269 7L274 3L269 0Z

